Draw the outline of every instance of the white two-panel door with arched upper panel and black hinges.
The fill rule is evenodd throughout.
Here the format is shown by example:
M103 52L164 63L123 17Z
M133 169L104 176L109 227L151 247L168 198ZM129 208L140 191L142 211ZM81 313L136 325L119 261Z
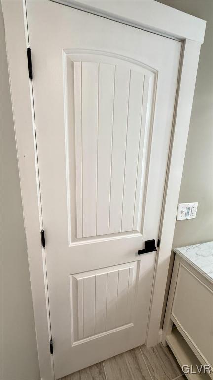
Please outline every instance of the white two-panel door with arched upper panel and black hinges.
M122 6L122 3L121 3ZM145 343L181 43L27 1L55 378Z

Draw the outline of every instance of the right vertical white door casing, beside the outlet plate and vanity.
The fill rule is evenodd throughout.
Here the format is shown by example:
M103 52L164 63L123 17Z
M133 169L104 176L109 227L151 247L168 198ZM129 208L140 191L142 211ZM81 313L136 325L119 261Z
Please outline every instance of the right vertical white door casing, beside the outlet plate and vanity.
M170 254L176 223L188 130L201 44L185 40L179 68L178 88L173 118L173 131L167 166L164 201L160 223L160 247L157 251L152 299L147 331L147 346L157 343Z

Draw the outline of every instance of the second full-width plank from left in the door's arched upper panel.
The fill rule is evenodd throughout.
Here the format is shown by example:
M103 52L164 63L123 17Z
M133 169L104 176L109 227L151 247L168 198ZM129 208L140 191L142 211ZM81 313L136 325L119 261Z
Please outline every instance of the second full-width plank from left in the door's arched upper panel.
M114 66L99 68L99 133L97 184L97 235L108 234L111 175L111 139L114 98Z

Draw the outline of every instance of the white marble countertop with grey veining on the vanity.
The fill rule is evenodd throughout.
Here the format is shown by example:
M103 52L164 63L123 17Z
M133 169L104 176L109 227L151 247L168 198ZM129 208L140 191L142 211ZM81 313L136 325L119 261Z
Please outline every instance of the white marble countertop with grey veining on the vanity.
M213 281L213 241L175 248L174 252L178 253L205 277Z

